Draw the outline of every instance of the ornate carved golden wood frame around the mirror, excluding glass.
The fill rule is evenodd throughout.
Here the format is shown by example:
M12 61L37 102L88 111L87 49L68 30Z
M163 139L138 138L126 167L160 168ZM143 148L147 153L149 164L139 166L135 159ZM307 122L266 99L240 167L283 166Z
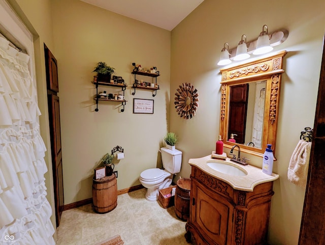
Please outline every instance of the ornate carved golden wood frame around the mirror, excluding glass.
M278 109L280 97L281 74L283 57L287 51L281 51L272 56L257 59L253 62L232 68L220 69L221 72L221 110L220 110L220 135L223 146L231 148L235 144L229 140L229 118L230 118L230 91L231 86L250 84L253 82L266 81L265 105L261 148L240 145L241 151L255 156L263 156L266 145L272 144L275 152L276 132L278 124ZM273 153L274 154L274 153ZM274 154L275 156L275 154Z

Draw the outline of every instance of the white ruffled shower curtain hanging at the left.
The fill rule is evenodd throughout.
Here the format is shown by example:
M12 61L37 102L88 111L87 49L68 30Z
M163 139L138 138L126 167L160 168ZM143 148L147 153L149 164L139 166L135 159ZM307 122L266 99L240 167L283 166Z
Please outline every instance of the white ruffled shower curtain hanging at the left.
M0 37L0 244L55 244L29 56Z

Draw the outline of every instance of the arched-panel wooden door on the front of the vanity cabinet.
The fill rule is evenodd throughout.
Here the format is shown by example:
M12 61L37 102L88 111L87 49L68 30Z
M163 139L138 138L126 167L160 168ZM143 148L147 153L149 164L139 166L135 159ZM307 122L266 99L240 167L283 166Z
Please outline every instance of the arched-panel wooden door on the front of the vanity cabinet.
M195 179L192 181L191 195L194 200L190 222L199 230L200 238L208 244L231 244L234 206Z

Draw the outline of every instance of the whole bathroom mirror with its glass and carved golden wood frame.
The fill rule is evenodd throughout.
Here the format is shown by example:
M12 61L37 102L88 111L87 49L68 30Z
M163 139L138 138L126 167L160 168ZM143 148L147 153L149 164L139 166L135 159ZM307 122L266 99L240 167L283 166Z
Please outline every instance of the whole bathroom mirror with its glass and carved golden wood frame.
M220 69L220 135L223 145L238 144L241 151L263 156L276 130L283 57L286 51L236 67ZM232 134L236 142L231 139Z

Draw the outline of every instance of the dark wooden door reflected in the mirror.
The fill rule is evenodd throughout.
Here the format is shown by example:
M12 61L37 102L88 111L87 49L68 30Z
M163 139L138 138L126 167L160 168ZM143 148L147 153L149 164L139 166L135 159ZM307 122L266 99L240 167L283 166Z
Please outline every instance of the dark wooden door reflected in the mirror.
M228 139L230 139L231 134L237 134L235 140L236 143L239 144L245 143L247 102L248 84L240 84L230 87Z

